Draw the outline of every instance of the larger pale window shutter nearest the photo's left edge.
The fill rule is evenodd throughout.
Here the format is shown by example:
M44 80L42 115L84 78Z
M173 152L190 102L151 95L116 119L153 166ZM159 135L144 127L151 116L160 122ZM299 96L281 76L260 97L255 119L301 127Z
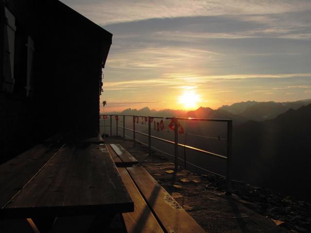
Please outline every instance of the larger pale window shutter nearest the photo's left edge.
M14 88L14 43L15 17L4 8L4 40L3 40L3 90L13 93Z

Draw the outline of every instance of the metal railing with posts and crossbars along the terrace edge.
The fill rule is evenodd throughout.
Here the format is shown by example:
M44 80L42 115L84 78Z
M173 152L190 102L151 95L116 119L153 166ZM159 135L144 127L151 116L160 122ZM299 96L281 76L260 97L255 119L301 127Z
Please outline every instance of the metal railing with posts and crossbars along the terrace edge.
M140 135L147 136L148 137L148 144L145 144L145 143L143 143L143 144L148 146L149 152L151 151L151 148L154 148L151 145L151 139L152 138L154 138L156 140L159 140L159 141L163 141L163 142L169 143L169 144L173 144L174 145L174 165L175 165L175 171L177 171L177 167L178 167L178 147L183 147L183 148L187 148L187 149L190 149L190 150L198 151L198 152L201 152L201 153L204 153L204 154L208 154L210 156L214 156L214 157L216 157L218 159L225 160L226 161L226 175L225 175L226 185L225 185L225 191L226 191L226 194L231 194L231 180L232 180L231 179L231 165L232 165L232 120L231 119L207 119L207 118L160 117L160 116L133 116L133 115L100 115L100 116L110 116L109 117L110 118L110 125L101 125L103 127L110 127L110 135L112 135L112 118L113 118L113 116L115 116L115 120L116 120L116 135L117 136L118 136L118 128L123 129L123 132L122 132L123 135L122 136L123 136L124 139L125 139L125 136L127 136L127 135L125 135L125 130L133 132L132 139L133 139L134 145L135 145L136 142L139 142L136 139L136 133L140 134ZM119 123L119 116L122 116L123 126L119 126L119 124L118 124ZM129 128L125 127L125 117L133 117L133 129L129 129ZM142 132L139 132L139 131L136 130L136 117L147 117L148 118L148 134L147 133L142 133ZM164 138L160 138L160 137L156 137L156 136L151 135L151 121L156 119L156 118L158 118L158 119L171 119L172 120L172 122L174 124L174 127L173 127L174 128L174 141L170 141L170 140L167 140L167 139L164 139ZM224 156L224 155L213 153L213 152L210 152L210 151L207 151L207 150L202 150L202 149L199 149L199 148L195 148L195 147L187 146L185 144L178 143L178 123L179 123L179 120L225 122L226 123L226 138L208 137L208 136L196 135L196 134L191 134L191 133L188 133L188 134L189 135L193 135L193 136L201 136L201 137L205 137L205 138L208 138L208 139L225 140L226 141L227 155ZM154 148L154 149L156 149L156 148ZM185 163L186 163L186 161L185 161ZM197 167L199 167L199 166L197 166ZM206 170L206 169L204 169L204 170ZM208 171L208 170L206 170L206 171ZM208 171L208 172L210 172L210 171ZM212 172L212 173L214 173L214 172ZM217 174L217 173L214 173L214 174ZM219 174L217 174L217 175L219 175Z

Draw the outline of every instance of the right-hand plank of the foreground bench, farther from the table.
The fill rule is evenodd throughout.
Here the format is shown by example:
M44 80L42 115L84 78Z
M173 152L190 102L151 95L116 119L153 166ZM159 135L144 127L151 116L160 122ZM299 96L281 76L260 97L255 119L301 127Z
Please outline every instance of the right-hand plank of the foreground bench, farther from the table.
M167 232L205 232L143 167L128 167L127 170Z

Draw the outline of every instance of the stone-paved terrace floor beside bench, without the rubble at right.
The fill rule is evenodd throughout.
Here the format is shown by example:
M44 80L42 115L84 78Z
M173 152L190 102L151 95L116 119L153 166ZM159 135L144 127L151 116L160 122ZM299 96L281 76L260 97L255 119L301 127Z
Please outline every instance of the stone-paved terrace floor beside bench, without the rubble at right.
M130 152L172 197L210 233L286 233L283 221L275 221L260 212L258 203L226 196L225 179L188 170L171 173L174 165L164 155L121 137L105 138L105 143L119 143ZM246 184L233 184L247 186ZM249 185L248 185L249 186ZM259 214L260 213L260 214Z

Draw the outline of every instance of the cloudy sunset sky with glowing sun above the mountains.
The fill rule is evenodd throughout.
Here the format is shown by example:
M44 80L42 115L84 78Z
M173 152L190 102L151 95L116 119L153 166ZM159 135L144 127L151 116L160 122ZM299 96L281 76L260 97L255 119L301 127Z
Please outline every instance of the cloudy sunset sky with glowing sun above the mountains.
M106 112L311 99L311 0L61 1L113 33Z

